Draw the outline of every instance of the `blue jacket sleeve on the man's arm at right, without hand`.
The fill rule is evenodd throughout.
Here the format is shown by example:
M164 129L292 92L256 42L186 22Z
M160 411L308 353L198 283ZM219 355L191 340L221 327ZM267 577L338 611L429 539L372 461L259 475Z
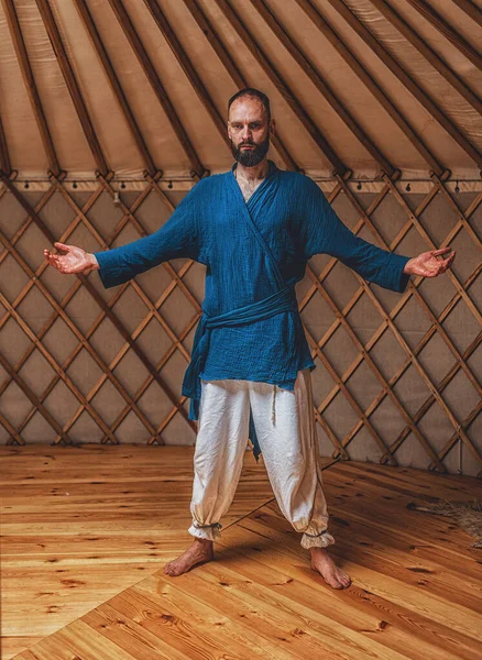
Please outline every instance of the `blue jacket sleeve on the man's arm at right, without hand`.
M403 273L410 258L382 250L357 237L331 208L320 188L309 179L305 186L302 217L302 243L306 260L314 254L330 254L355 271L363 279L403 293L410 276Z

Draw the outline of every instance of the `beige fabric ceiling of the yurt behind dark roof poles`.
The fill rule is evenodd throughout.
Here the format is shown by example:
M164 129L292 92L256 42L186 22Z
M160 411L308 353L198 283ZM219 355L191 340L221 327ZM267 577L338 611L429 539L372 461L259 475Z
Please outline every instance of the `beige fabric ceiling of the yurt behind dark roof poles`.
M10 168L18 170L21 177L35 178L45 177L52 168L40 128L42 110L59 169L78 178L92 178L99 169L88 132L86 135L79 119L78 101L76 107L65 70L63 73L59 65L59 50L53 47L55 40L46 30L45 11L48 8L67 55L67 66L72 67L80 89L80 103L85 105L106 162L103 174L113 170L118 178L128 179L142 178L145 169L152 170L89 38L79 13L81 7L91 16L152 157L154 172L151 174L160 169L165 178L190 178L190 172L196 167L193 167L193 158L176 135L153 81L145 75L125 35L118 18L122 9L132 22L140 47L152 63L164 87L163 94L174 106L201 166L211 173L230 166L231 154L212 110L207 109L197 94L191 75L183 68L149 4L151 9L152 6L161 9L184 50L184 64L186 59L190 63L223 120L227 100L241 81L270 95L278 134L292 160L287 163L286 157L273 148L272 157L280 166L295 166L314 177L331 177L335 169L343 174L342 168L352 170L354 177L375 177L382 169L382 160L401 169L403 178L427 178L437 163L440 172L450 169L452 178L480 180L480 0L1 0L3 170ZM199 26L195 19L199 11L219 37L220 46L216 45L211 33L206 35ZM270 24L266 11L270 12ZM19 21L22 40L19 35L14 37L12 15ZM426 52L417 50L406 33L401 32L396 18L429 47L435 56L431 62ZM235 23L237 19L243 28ZM273 20L285 31L292 47L297 46L305 65L295 59L293 52L288 52L275 34ZM321 32L322 21L338 36L339 48L333 45L337 36L328 40ZM363 26L368 33L363 33ZM370 35L375 37L375 45L368 43ZM260 48L256 55L248 46L250 37ZM23 70L19 41L23 41L28 55ZM343 46L348 50L348 59L340 53ZM234 69L228 70L221 61L220 47L226 48ZM383 107L380 97L375 98L366 78L362 80L360 72L352 69L350 53L390 99L391 113L388 106ZM263 57L271 75L262 66ZM399 65L409 77L409 85L415 84L418 91L414 91L414 87L408 89L403 74L401 80L394 73L397 69L388 67L391 62L392 69ZM31 67L39 95L40 103L35 107L25 85L25 66ZM309 66L351 116L358 136L353 125L347 125L328 102L327 95L308 77L305 67ZM238 73L233 75L233 70ZM459 80L459 89L453 82L454 77ZM461 88L465 90L463 94ZM287 95L297 106L287 102ZM302 121L302 113L306 113L311 131ZM362 144L360 129L381 160ZM313 131L337 156L335 165ZM421 147L409 139L410 131ZM431 155L431 162L423 150Z

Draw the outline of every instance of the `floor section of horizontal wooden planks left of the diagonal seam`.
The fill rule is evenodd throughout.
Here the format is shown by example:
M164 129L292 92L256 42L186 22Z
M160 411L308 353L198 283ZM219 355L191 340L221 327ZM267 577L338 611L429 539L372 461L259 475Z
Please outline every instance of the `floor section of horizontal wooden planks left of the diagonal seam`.
M193 452L0 448L2 660L138 583L189 544ZM272 497L264 466L250 453L245 463L224 527Z

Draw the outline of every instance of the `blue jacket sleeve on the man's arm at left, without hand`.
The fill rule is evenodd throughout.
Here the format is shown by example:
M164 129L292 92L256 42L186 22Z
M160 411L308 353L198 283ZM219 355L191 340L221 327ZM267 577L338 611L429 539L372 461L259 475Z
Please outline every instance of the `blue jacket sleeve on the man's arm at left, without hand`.
M200 183L196 184L167 222L154 233L127 245L94 253L99 262L100 279L106 288L123 284L171 258L202 260L199 237L201 196L199 190L196 190Z

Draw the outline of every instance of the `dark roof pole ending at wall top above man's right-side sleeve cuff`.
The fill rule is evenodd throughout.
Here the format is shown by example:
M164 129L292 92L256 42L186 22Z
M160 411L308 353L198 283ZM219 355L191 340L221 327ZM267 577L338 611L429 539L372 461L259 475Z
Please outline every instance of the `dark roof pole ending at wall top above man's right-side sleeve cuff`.
M255 7L262 18L265 20L270 29L276 34L278 40L288 51L288 53L298 63L299 67L305 72L315 87L321 92L324 98L330 103L333 110L339 114L340 119L351 130L353 135L358 138L360 143L366 148L366 151L373 156L379 163L381 168L392 176L395 172L395 167L390 161L381 153L372 140L366 135L363 129L357 123L354 118L350 114L343 103L338 99L328 82L321 77L315 65L309 62L307 56L300 51L295 42L288 36L283 25L278 22L273 12L266 7L262 0L251 0L251 4Z

